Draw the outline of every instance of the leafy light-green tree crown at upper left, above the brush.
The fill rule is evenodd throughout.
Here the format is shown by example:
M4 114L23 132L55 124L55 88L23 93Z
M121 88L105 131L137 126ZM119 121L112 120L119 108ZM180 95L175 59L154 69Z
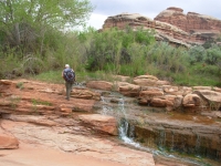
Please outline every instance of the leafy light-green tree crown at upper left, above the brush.
M92 10L88 0L1 0L1 44L42 52L46 32L82 25Z

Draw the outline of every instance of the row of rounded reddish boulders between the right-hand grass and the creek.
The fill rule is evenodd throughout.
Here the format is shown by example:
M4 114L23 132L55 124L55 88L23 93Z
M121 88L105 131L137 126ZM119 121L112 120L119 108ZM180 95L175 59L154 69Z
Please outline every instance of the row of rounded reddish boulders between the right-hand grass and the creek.
M97 83L96 83L97 82ZM103 90L101 81L92 81ZM92 85L88 82L90 85ZM203 111L221 110L221 93L219 87L211 86L175 86L169 82L158 80L154 75L139 75L133 83L115 82L115 90L125 96L136 97L144 106L165 107L166 111L186 111L201 113ZM107 82L104 82L104 86ZM110 84L110 83L109 83Z

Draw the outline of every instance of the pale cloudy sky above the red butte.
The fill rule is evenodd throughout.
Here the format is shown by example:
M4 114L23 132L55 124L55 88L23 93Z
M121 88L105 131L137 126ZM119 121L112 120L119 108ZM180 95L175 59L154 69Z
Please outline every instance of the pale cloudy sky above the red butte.
M177 7L183 13L197 12L221 20L221 0L91 0L95 8L87 21L87 27L102 29L108 17L123 12L139 13L154 20L169 7Z

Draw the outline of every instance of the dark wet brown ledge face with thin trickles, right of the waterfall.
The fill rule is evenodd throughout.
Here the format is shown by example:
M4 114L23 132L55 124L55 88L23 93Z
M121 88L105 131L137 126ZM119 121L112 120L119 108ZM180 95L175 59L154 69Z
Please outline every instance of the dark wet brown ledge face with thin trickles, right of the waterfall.
M221 128L215 124L147 118L145 124L135 125L135 135L137 141L148 147L167 148L218 160L221 157Z

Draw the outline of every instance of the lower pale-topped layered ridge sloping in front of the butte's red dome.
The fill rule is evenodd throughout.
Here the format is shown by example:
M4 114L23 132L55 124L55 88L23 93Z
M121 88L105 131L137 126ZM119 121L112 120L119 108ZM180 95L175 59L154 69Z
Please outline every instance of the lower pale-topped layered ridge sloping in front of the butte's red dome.
M172 24L155 21L138 13L122 13L114 17L108 17L105 20L103 30L107 30L114 27L124 30L127 25L131 27L134 30L140 27L144 29L155 29L157 32L156 40L166 40L173 44L190 46L185 41L187 40L190 42L189 33Z

